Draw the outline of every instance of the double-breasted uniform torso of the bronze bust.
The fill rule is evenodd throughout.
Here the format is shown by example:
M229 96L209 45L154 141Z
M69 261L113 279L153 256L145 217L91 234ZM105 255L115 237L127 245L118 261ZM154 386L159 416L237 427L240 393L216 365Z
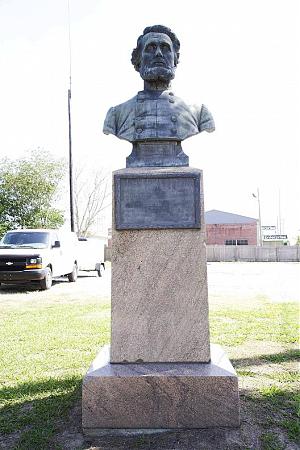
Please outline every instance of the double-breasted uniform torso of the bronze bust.
M214 131L214 120L204 106L187 105L170 90L140 91L109 109L103 131L129 142L184 139Z

